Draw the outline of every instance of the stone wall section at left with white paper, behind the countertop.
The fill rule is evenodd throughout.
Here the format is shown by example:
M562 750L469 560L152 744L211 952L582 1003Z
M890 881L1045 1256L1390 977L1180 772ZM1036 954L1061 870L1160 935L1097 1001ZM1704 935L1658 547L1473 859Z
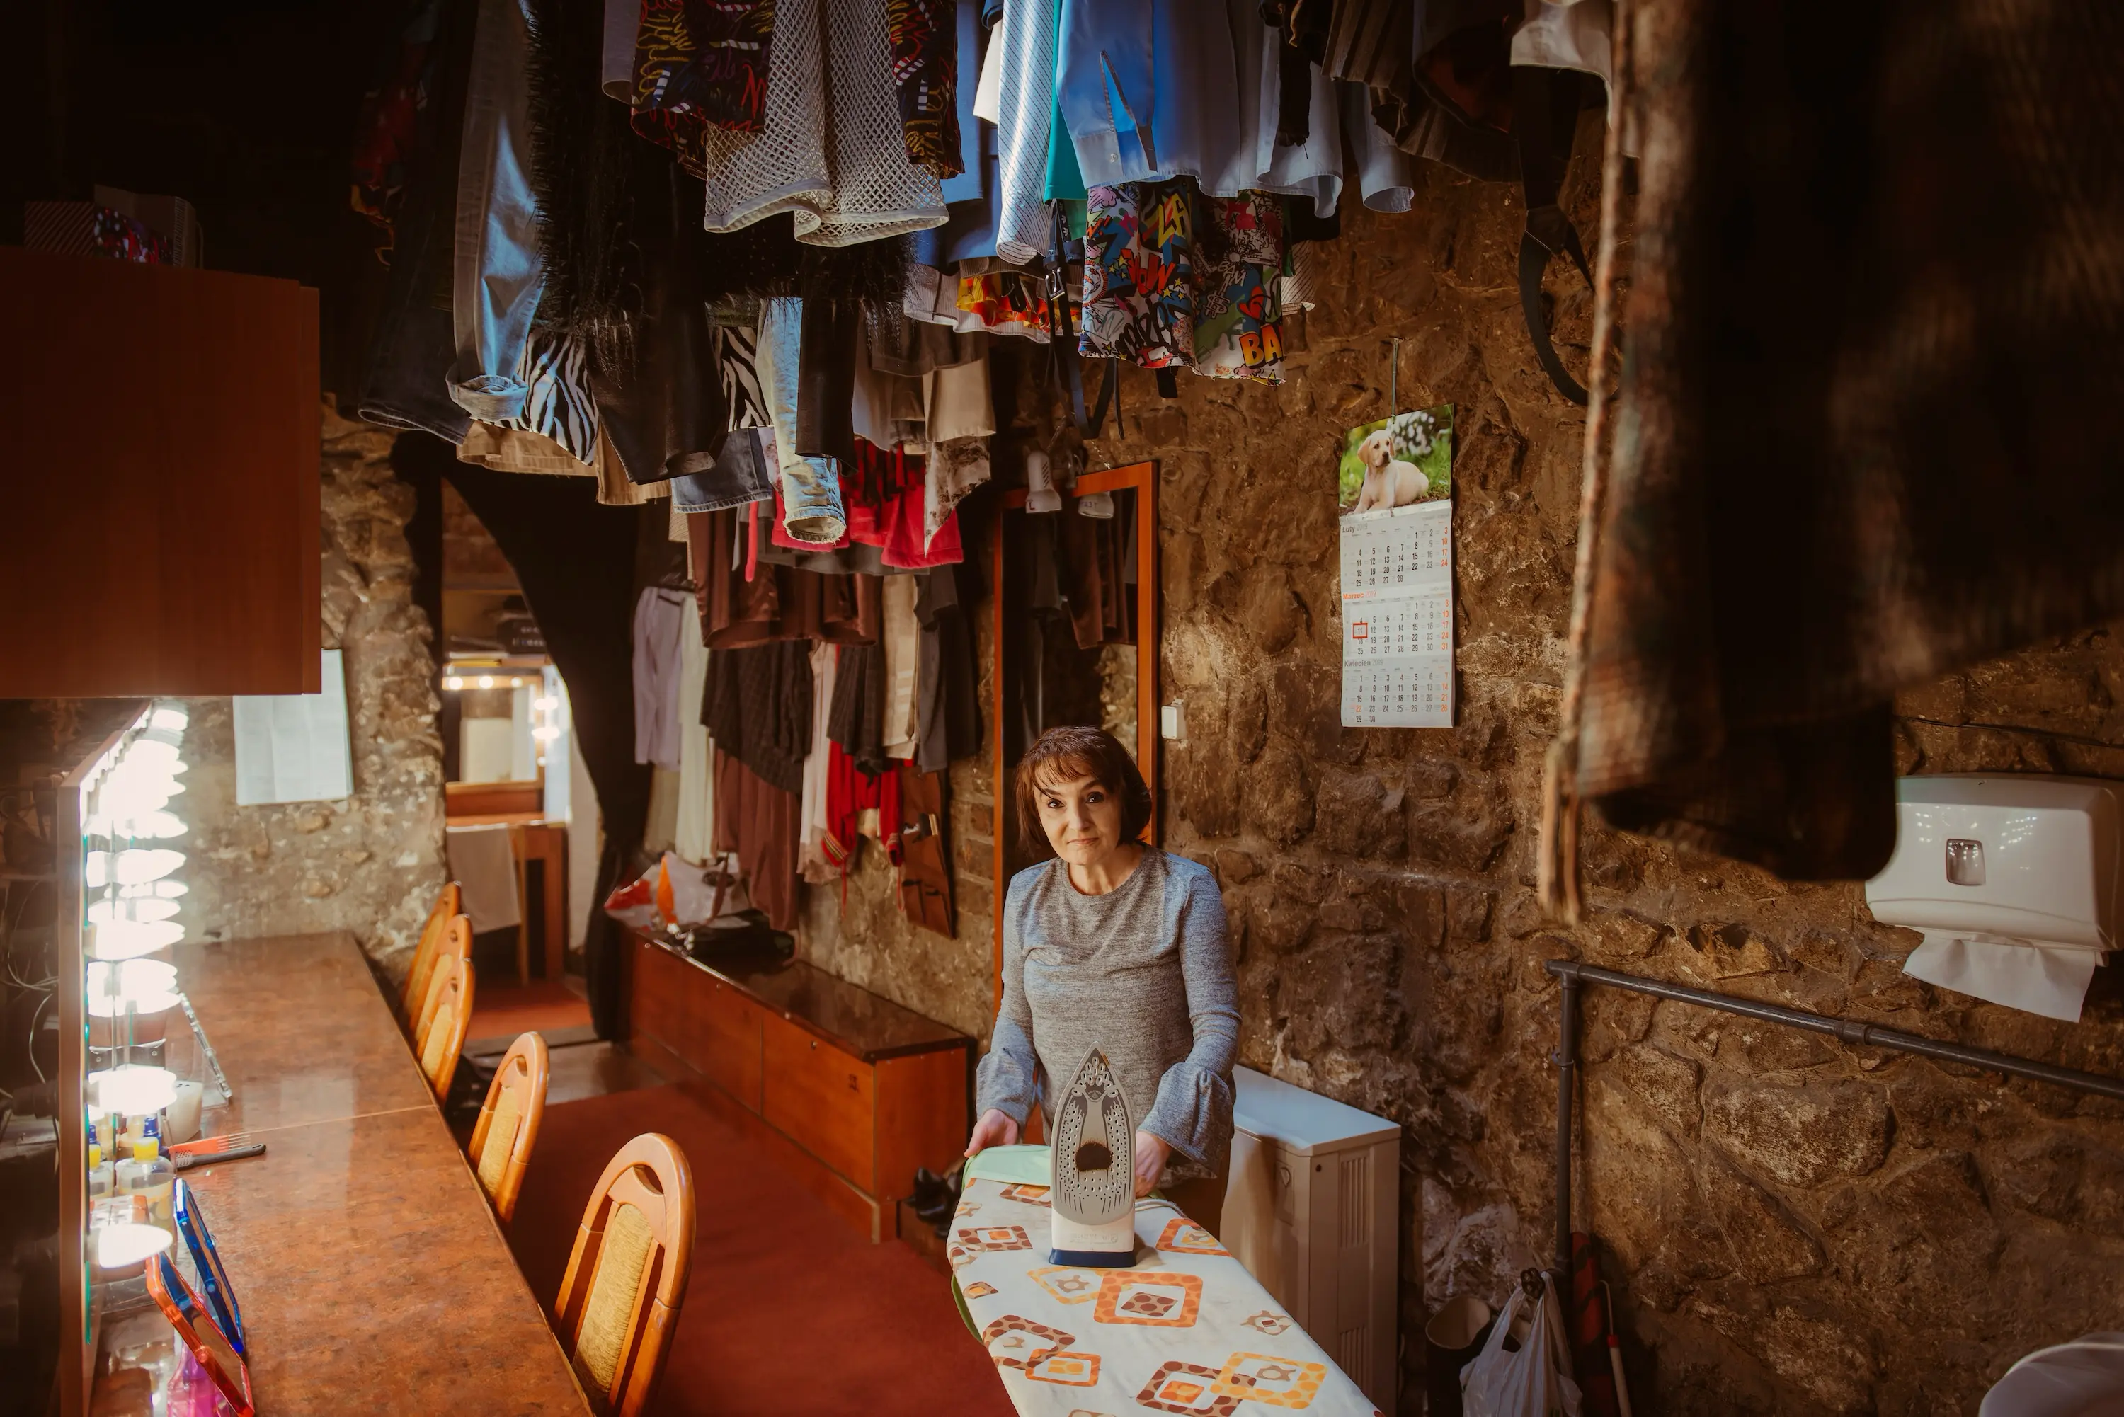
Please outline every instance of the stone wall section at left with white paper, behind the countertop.
M442 890L442 739L431 627L412 603L406 520L414 493L391 474L393 433L323 414L325 648L346 652L355 795L236 805L229 699L193 699L185 735L191 939L353 931L397 973Z

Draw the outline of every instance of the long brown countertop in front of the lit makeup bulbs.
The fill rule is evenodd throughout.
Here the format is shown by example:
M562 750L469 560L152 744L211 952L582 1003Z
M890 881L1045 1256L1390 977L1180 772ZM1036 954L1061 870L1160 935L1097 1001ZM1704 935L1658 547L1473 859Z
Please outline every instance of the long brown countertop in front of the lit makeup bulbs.
M261 1413L588 1413L348 935L178 945L236 1090L185 1173L236 1283Z

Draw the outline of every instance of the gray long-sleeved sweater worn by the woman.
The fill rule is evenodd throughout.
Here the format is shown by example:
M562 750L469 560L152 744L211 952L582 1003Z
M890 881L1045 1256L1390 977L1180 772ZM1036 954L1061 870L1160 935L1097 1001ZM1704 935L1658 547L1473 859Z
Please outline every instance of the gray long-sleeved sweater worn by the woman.
M1145 848L1115 890L1087 897L1062 860L1011 877L1003 903L1003 1007L981 1058L975 1115L1024 1126L1094 1047L1136 1128L1172 1147L1166 1181L1223 1175L1232 1154L1238 988L1223 897L1206 867Z

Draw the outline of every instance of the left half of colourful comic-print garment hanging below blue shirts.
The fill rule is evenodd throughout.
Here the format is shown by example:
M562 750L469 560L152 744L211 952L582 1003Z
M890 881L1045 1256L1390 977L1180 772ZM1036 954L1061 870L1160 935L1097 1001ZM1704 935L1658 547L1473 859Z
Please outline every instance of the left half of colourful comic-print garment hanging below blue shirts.
M1079 353L1145 370L1194 365L1194 183L1092 187L1085 202Z

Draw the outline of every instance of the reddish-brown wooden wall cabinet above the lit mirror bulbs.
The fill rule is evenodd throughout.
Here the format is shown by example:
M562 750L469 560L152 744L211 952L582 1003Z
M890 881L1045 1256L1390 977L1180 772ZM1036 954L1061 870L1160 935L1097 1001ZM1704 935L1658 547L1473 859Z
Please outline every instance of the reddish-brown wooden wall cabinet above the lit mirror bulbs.
M316 291L0 246L0 697L316 693Z

